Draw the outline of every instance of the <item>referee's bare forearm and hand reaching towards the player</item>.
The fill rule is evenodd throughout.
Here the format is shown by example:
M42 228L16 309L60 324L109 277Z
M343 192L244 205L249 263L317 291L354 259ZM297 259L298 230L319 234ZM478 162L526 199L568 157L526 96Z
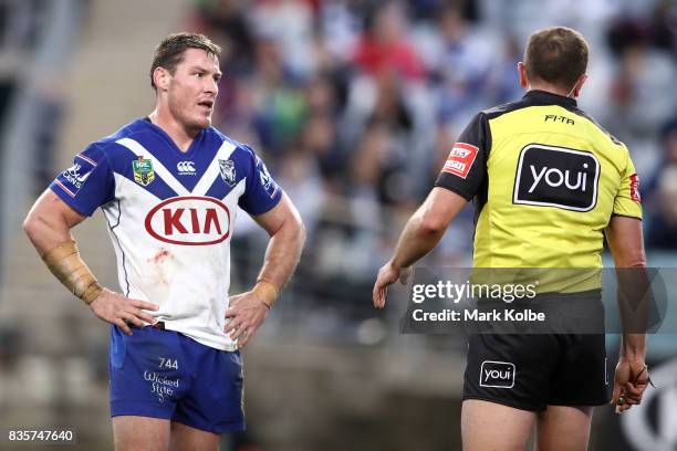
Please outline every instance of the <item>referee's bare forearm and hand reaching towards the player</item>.
M449 223L466 203L468 201L454 191L433 188L424 203L407 221L393 258L378 271L372 292L375 307L385 306L388 285L400 277L406 282L409 266L437 245Z

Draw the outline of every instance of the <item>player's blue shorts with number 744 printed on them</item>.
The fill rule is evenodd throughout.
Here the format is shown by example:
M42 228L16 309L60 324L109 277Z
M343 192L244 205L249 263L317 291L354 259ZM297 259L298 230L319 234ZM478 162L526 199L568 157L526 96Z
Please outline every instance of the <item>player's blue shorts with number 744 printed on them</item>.
M240 352L174 331L111 327L111 417L165 418L213 433L244 430Z

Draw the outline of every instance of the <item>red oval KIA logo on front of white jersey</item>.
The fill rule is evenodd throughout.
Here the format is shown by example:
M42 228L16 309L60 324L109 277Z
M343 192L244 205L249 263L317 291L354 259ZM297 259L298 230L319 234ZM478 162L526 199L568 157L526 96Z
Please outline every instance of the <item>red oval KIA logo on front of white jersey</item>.
M148 212L146 230L157 240L171 244L217 244L230 234L230 211L208 197L175 197Z

